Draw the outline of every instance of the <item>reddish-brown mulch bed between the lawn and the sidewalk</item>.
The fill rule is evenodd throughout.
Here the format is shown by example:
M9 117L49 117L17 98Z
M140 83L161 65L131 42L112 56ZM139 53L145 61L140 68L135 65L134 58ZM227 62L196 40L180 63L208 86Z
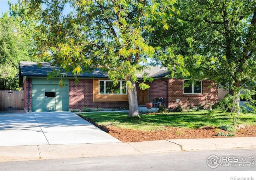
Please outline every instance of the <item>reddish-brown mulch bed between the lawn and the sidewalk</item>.
M110 126L108 134L114 136L122 142L139 142L150 140L165 140L165 139L189 139L189 138L230 138L230 136L217 136L218 132L228 134L229 132L212 128L204 127L200 129L185 129L166 127L161 131L138 131L131 129L122 129ZM256 136L256 125L237 129L232 137L253 137Z

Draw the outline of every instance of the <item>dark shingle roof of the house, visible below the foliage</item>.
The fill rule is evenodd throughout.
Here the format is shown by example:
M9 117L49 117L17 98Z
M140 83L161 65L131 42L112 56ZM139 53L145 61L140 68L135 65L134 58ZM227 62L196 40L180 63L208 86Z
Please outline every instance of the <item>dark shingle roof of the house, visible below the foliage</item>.
M53 69L59 70L60 68L51 66L48 62L42 62L42 67L38 67L38 62L30 62L30 61L20 61L20 76L47 76L48 73L52 72ZM168 69L166 67L154 67L151 66L149 69L145 69L146 73L148 73L149 77L157 78L164 77L168 75ZM143 72L143 73L144 73ZM139 73L137 75L138 78L142 78L143 73ZM73 77L71 73L66 75L67 77ZM95 69L91 73L83 73L78 75L78 77L100 77L100 78L108 78L107 73L103 73L100 69Z

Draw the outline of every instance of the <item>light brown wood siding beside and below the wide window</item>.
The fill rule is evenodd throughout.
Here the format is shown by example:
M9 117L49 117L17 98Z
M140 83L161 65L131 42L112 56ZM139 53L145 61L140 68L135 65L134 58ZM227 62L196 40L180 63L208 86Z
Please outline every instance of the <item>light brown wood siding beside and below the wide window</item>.
M93 102L122 102L128 101L128 95L99 94L99 79L93 80Z

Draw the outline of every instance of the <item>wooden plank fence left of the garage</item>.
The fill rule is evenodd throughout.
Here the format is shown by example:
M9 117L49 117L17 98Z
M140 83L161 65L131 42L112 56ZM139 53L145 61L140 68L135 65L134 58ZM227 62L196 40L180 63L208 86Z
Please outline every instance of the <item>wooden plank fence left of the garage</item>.
M23 91L0 91L0 110L23 110Z

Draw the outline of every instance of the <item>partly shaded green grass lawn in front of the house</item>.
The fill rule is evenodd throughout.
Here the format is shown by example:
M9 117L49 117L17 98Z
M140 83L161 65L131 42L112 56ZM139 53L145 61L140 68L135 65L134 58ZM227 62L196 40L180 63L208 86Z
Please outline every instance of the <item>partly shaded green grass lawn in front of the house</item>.
M138 129L141 131L155 131L165 127L182 127L196 129L205 126L219 127L220 125L232 125L232 115L228 112L218 111L194 111L181 113L161 113L140 115L141 119L128 117L127 113L100 112L81 113L85 119L92 119L97 125L113 125L126 129ZM240 114L238 124L250 126L256 125L256 114Z

